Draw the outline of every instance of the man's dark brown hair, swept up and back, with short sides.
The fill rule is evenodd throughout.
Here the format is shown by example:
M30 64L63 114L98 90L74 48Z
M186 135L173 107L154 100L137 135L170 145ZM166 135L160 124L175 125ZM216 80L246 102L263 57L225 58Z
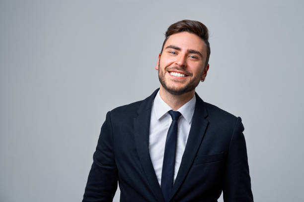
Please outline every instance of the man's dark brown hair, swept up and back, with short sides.
M207 58L206 58L206 65L209 62L210 57L210 44L209 44L209 33L208 28L201 22L195 21L195 20L181 20L178 22L175 22L174 24L170 25L170 27L167 29L165 33L165 40L163 41L161 52L163 50L163 46L168 40L168 38L173 35L177 34L179 32L189 32L193 33L197 36L199 36L206 44L207 46Z

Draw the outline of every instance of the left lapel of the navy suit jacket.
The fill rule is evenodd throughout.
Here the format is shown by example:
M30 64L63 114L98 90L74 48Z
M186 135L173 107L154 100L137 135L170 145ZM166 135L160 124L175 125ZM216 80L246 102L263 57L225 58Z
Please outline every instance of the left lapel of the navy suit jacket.
M153 168L153 164L149 152L149 129L151 118L152 101L156 96L158 89L153 94L145 99L138 110L138 116L134 118L134 136L136 148L144 172L146 173L152 193L159 202L163 202L163 196L159 187L157 177Z

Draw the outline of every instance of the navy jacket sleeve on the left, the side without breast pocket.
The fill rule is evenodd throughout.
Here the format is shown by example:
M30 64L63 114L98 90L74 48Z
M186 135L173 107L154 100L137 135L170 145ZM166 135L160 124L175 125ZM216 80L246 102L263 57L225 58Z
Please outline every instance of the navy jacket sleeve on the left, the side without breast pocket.
M117 189L118 173L110 112L101 127L93 163L88 175L82 202L112 202Z

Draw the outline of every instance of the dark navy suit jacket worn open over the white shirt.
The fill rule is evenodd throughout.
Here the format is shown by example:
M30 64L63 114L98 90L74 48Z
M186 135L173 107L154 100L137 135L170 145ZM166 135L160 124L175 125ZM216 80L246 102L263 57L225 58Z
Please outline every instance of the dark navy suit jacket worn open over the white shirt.
M120 106L106 115L93 154L83 202L164 202L149 153L152 101ZM196 96L191 129L170 202L253 202L240 117Z

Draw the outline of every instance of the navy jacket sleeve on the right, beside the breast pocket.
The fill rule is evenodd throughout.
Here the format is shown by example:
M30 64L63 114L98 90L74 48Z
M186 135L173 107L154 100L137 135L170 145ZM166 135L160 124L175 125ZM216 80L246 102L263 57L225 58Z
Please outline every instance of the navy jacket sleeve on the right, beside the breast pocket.
M224 202L253 202L244 127L237 117L226 161Z

